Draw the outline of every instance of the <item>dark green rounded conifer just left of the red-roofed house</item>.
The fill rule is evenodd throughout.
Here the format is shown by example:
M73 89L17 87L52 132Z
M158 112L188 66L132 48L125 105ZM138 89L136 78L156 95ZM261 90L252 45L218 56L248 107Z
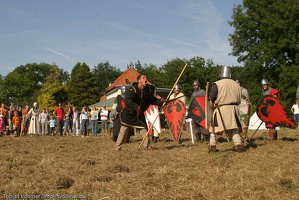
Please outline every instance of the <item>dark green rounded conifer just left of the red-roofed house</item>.
M71 72L71 78L66 83L68 103L70 105L88 106L99 101L99 89L96 79L86 63L78 62Z

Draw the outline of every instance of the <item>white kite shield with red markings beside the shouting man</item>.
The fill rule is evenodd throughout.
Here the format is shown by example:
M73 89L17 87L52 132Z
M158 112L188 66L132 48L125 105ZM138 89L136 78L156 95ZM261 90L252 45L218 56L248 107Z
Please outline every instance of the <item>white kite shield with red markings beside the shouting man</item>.
M144 116L147 123L147 127L150 128L151 124L153 124L152 128L154 128L160 134L161 124L158 106L150 105L148 109L144 111ZM149 135L152 135L152 130L149 131Z

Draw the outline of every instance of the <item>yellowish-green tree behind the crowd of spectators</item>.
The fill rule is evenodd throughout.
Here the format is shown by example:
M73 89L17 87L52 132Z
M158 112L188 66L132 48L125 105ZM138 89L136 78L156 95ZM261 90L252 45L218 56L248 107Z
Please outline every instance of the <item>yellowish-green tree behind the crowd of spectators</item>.
M65 72L53 65L50 69L50 74L45 78L45 83L42 85L38 103L40 108L48 108L54 110L58 103L65 105L67 103L66 87L63 84L66 80Z

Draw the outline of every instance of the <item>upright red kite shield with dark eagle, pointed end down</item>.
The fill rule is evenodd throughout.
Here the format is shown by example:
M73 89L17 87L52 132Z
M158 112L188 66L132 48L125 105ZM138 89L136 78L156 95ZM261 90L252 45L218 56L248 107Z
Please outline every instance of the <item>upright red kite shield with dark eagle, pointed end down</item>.
M181 138L181 130L186 116L186 107L184 103L176 99L165 106L164 114L175 141Z

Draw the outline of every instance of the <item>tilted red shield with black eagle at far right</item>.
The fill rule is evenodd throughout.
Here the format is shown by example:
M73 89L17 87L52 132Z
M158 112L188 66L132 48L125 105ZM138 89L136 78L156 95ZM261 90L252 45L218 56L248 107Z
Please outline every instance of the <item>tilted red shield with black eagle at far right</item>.
M266 124L296 128L296 123L293 118L286 112L286 109L279 100L272 95L266 95L259 100L256 113Z

